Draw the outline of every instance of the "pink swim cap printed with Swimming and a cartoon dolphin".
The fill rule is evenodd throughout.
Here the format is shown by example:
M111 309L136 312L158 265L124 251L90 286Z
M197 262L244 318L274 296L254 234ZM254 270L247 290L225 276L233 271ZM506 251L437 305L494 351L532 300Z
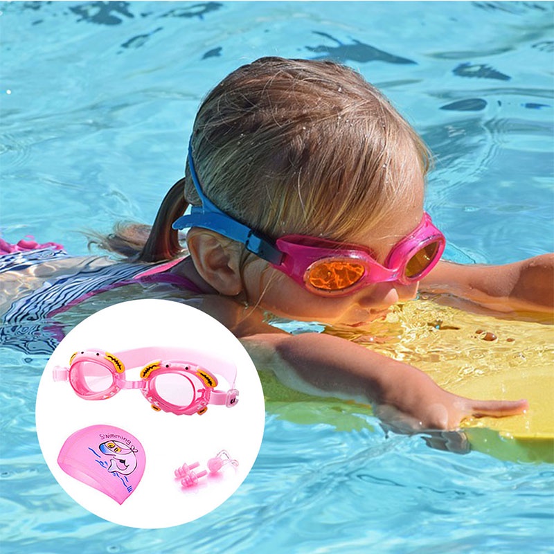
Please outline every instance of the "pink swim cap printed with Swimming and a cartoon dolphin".
M127 431L92 425L67 438L57 463L66 474L123 504L141 481L146 457Z

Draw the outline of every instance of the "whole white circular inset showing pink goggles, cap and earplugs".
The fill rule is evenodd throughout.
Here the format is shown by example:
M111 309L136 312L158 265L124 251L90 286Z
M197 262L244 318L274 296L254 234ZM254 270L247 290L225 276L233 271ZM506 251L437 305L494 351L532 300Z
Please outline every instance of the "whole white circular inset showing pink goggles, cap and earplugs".
M163 528L237 490L258 456L265 406L229 330L148 299L100 310L67 334L44 369L36 418L46 463L75 501L116 524Z

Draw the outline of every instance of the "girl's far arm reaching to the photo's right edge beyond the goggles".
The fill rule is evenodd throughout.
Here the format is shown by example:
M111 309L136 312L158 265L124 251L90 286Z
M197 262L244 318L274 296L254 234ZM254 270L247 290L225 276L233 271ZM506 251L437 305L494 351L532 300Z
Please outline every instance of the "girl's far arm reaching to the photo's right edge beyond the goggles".
M497 312L552 312L554 254L508 265L439 262L421 281L420 289L452 294Z

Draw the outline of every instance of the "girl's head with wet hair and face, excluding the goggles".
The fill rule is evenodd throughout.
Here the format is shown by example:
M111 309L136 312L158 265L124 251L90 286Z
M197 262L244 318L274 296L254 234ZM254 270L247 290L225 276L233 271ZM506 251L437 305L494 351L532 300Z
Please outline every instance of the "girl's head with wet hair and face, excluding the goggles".
M425 145L377 89L338 64L271 57L242 66L199 108L191 152L204 196L271 242L297 234L358 243L384 264L423 222ZM161 206L143 260L175 253L176 235L163 231L169 217L187 202L202 204L192 157ZM186 202L177 199L183 182ZM358 324L417 289L379 282L323 298L219 233L193 226L187 242L215 291L294 319Z

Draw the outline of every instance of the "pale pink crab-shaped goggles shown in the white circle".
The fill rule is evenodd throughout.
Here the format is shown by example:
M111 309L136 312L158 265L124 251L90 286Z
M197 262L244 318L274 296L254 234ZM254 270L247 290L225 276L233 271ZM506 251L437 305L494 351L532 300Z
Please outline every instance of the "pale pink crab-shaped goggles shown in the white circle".
M125 378L125 370L131 368L141 368L140 380ZM229 388L217 388L216 375ZM115 354L81 350L71 356L69 368L57 366L53 371L55 381L69 381L84 400L105 400L122 388L139 388L154 410L177 415L205 413L208 404L235 406L236 375L236 367L229 361L181 348L137 348Z

